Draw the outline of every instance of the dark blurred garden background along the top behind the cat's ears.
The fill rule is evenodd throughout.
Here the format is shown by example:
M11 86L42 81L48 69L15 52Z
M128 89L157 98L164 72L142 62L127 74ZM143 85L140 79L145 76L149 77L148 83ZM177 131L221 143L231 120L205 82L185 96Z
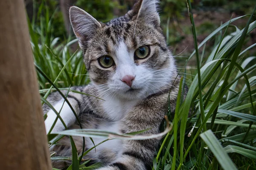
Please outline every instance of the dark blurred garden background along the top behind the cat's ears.
M43 2L45 9L40 9ZM33 14L38 14L38 11L43 14L48 10L49 14L53 15L51 26L53 37L60 37L60 40L73 36L68 16L70 6L78 6L97 20L107 22L125 14L135 2L136 0L25 0L29 20L32 20ZM231 17L251 14L254 3L255 0L192 0L198 43ZM176 55L181 52L183 55L191 54L194 43L186 0L160 0L160 7L162 28L168 45ZM40 24L42 22L40 19L44 17L38 17L36 23ZM233 24L238 28L244 28L246 22L245 17ZM235 29L228 31L234 32ZM253 37L250 38L248 45L255 43L256 30L250 36ZM209 43L214 43L214 40ZM207 47L209 46L211 45L207 44ZM211 49L206 49L206 52L209 50Z

